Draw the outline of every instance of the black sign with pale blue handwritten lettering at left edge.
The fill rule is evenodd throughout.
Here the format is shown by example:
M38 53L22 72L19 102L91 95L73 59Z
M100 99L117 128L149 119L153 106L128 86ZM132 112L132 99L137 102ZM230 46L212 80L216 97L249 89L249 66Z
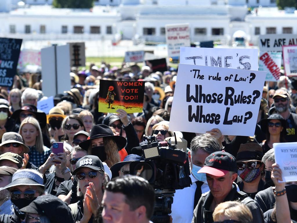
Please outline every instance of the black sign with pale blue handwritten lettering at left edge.
M0 38L0 86L11 87L13 84L22 41Z

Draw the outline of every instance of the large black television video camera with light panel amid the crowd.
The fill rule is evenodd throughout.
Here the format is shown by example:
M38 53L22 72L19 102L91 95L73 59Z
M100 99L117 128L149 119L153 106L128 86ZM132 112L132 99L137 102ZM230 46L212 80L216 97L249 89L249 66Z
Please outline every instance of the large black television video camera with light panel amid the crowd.
M154 136L143 136L142 145L144 161L133 161L130 164L130 174L145 178L155 189L156 202L154 215L151 220L154 223L169 222L171 204L175 190L189 187L191 178L187 153L169 142L157 142Z

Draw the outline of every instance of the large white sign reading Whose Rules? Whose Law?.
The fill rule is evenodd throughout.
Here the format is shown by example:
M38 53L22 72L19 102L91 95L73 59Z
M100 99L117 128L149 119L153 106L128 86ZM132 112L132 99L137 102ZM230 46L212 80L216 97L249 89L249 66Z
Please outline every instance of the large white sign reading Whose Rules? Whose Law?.
M179 64L169 130L254 136L266 72Z

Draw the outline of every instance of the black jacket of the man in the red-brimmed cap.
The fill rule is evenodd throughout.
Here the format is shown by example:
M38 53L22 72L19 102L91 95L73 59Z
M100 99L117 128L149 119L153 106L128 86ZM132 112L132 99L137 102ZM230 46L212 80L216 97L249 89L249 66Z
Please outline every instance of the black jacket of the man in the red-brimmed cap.
M214 199L211 192L207 192L202 194L198 204L194 210L194 217L192 219L192 223L212 223L214 222L212 218L212 211L210 211L210 205L212 200ZM224 201L235 201L240 200L244 203L252 212L253 223L263 223L263 212L261 211L259 205L255 200L248 197L246 193L239 191L237 192L235 184L233 184L231 191L225 197Z

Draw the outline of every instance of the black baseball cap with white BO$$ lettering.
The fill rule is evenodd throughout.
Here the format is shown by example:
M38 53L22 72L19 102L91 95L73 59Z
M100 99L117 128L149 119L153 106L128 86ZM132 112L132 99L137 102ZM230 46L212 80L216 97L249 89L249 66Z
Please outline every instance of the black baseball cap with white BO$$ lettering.
M89 167L90 169L104 172L104 166L98 156L87 155L80 158L76 162L75 170L73 170L72 175L75 175L81 168Z

